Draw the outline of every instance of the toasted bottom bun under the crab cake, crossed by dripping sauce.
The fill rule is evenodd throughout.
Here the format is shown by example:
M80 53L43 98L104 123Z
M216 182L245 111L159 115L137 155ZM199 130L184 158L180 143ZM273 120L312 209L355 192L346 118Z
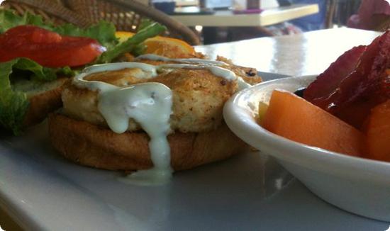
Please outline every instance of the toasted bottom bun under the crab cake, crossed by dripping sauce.
M139 170L153 167L146 133L117 134L85 121L61 114L49 116L52 145L74 162L110 170ZM245 152L247 145L223 123L206 133L168 135L171 165L184 170Z

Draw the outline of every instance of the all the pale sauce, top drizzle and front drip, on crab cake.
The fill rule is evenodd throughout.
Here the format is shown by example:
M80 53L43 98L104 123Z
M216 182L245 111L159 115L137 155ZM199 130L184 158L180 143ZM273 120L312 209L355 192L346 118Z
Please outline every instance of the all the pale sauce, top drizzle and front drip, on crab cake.
M154 164L152 169L136 171L121 181L140 185L165 184L172 177L170 166L170 147L167 135L170 131L169 118L172 114L172 91L164 84L143 83L119 87L103 81L87 81L89 74L105 71L116 71L126 68L139 68L148 72L145 78L157 76L161 69L208 69L214 75L228 81L238 80L239 89L250 86L234 72L221 65L225 62L201 59L169 59L159 55L141 55L136 60L149 59L160 61L184 62L184 64L161 64L158 66L140 62L121 62L94 65L74 77L73 84L91 91L99 91L98 108L114 133L125 133L129 119L133 118L150 137L150 157ZM158 112L158 113L156 113Z

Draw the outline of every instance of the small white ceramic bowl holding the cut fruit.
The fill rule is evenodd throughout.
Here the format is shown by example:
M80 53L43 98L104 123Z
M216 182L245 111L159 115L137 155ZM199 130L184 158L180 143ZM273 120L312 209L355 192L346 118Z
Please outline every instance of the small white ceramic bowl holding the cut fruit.
M277 158L323 200L352 213L390 222L390 163L302 145L269 133L256 123L258 103L267 103L272 90L294 92L314 79L277 79L240 91L225 104L225 121L238 137Z

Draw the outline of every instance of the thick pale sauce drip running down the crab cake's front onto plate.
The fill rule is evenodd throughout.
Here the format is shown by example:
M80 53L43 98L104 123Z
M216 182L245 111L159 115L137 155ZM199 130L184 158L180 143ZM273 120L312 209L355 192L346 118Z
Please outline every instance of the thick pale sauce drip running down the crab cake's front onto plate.
M128 129L133 118L149 135L152 169L136 171L126 181L133 184L164 184L172 177L167 135L172 113L172 91L164 84L145 83L99 95L99 111L115 133Z

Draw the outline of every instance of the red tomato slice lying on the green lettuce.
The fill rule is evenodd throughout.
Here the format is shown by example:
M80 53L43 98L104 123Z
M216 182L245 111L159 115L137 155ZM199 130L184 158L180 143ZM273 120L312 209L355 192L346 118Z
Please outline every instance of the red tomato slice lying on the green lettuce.
M92 38L62 36L37 26L17 26L0 35L0 62L26 57L44 67L77 67L105 50Z

